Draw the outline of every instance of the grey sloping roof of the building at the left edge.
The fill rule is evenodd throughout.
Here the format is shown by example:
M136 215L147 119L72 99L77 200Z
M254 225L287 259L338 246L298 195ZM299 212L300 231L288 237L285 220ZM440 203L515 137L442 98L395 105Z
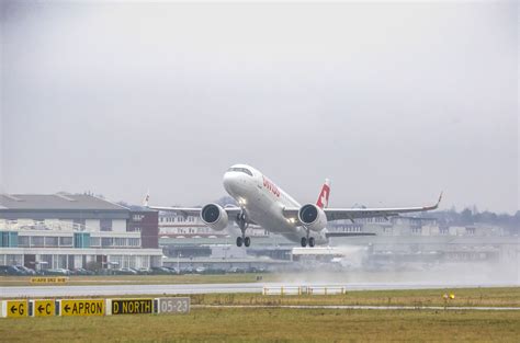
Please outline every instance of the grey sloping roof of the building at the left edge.
M0 194L1 210L125 210L109 201L88 194Z

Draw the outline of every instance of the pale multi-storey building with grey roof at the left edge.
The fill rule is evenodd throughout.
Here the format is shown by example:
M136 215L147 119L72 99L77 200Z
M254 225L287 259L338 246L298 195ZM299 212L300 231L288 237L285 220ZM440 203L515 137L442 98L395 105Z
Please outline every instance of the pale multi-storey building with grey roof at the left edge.
M158 213L88 194L0 195L0 265L110 270L162 263Z

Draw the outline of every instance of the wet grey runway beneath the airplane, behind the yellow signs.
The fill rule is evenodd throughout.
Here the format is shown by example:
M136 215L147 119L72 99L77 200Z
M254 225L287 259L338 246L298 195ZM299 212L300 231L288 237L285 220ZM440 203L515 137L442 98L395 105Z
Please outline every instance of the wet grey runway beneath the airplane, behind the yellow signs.
M242 283L242 284L174 284L174 285L90 285L90 286L13 286L0 287L0 298L78 297L126 295L190 295L210 293L257 293L264 287L344 287L344 290L439 289L473 287L518 287L518 284L436 284L436 283Z

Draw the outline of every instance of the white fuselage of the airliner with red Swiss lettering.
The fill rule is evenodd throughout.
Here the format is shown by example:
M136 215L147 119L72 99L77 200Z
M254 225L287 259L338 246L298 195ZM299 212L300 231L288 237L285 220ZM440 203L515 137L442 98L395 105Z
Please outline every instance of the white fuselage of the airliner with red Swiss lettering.
M241 168L252 175L246 171L237 171ZM245 164L233 165L224 174L224 188L245 210L249 221L295 242L306 236L306 230L298 226L297 220L289 220L283 215L285 207L299 208L299 203L255 168ZM310 236L318 244L327 242L325 235L320 232L312 232Z

